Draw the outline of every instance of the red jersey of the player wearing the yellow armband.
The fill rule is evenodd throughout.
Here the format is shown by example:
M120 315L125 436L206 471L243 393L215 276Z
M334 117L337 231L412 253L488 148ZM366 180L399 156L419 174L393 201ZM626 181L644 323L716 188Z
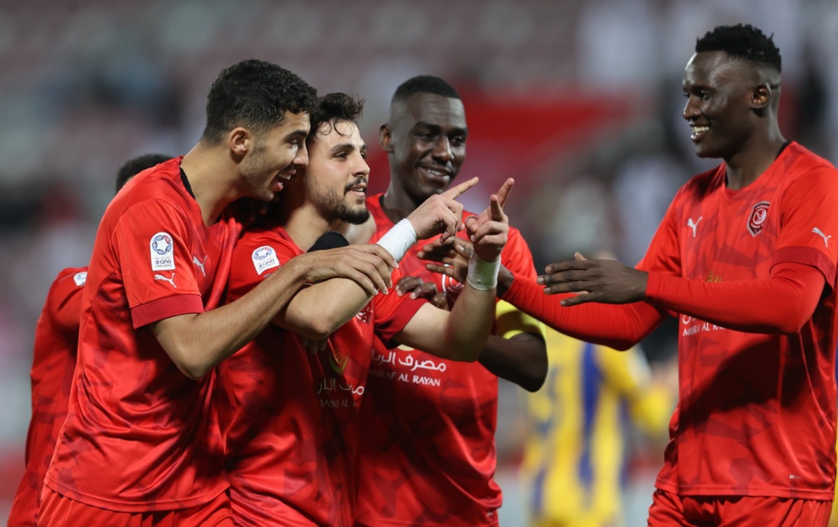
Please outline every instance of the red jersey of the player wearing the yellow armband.
M393 226L380 204L372 241ZM467 213L468 214L468 213ZM399 264L405 276L436 282L439 291L463 285L425 269L414 245ZM520 232L510 228L504 266L535 280ZM497 524L500 488L494 483L498 378L478 363L440 359L418 349L385 349L376 340L368 397L361 406L358 520L365 525Z

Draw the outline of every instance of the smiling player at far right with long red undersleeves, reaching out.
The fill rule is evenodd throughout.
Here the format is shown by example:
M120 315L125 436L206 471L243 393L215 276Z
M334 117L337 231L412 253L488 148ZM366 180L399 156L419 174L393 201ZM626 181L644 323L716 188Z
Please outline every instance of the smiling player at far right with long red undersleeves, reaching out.
M675 195L636 268L562 262L504 296L621 349L679 318L680 397L653 526L825 525L830 514L838 172L780 133L780 71L758 28L698 39L683 116L696 154L722 163Z

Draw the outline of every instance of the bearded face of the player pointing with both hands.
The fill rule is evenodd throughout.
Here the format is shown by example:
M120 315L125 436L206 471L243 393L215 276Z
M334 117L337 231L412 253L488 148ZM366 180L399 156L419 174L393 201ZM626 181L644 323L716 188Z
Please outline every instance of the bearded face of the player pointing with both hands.
M366 153L354 122L327 121L320 125L310 144L303 182L306 200L326 220L360 225L369 219L366 186L370 167Z

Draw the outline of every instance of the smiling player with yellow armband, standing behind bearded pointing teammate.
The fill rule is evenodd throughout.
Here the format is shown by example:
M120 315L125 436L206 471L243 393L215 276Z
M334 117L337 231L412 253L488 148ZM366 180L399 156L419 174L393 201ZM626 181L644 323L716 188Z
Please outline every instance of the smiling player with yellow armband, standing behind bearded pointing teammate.
M373 240L447 189L463 165L467 137L463 101L445 80L423 75L398 87L389 120L380 127L390 187L367 199L377 227ZM439 291L462 287L425 269L416 256L422 245L401 261L401 273L436 282ZM501 259L535 280L532 256L517 230L510 228ZM479 364L439 361L422 349L391 351L376 339L369 396L361 406L359 524L497 523L496 375L528 390L541 386L546 349L533 331L490 338ZM414 369L426 360L437 369Z

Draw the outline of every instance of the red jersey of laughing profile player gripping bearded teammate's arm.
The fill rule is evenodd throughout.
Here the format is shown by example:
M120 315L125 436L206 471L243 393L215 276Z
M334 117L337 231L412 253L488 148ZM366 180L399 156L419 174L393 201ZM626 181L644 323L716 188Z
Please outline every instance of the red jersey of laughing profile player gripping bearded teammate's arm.
M180 158L140 173L108 205L49 488L122 512L185 509L225 491L215 373L190 380L146 326L216 307L240 232L226 216L204 225Z

